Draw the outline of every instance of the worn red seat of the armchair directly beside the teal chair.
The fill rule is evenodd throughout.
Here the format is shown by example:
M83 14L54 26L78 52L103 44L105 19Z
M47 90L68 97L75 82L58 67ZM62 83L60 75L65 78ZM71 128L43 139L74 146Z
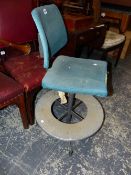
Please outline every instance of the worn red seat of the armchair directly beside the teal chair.
M9 74L22 84L26 91L40 86L46 72L43 68L43 59L38 52L12 57L5 61L4 65Z

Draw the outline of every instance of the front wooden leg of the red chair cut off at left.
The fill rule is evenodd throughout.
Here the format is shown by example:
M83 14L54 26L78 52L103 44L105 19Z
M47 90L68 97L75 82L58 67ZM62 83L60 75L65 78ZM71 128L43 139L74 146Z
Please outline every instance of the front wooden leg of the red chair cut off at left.
M28 122L28 117L27 117L27 112L26 112L24 94L21 94L18 96L17 105L18 105L20 113L21 113L21 119L23 122L23 126L25 129L27 129L27 128L29 128L29 122Z

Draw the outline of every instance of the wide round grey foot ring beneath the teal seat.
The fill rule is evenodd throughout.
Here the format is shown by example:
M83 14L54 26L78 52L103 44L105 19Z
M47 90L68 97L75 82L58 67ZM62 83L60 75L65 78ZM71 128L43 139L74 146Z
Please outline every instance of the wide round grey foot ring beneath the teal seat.
M48 91L38 100L35 108L37 123L49 135L60 140L75 141L90 137L100 129L104 113L93 96L76 94L76 98L88 107L88 113L82 121L73 124L63 123L53 116L51 106L57 98L56 91Z

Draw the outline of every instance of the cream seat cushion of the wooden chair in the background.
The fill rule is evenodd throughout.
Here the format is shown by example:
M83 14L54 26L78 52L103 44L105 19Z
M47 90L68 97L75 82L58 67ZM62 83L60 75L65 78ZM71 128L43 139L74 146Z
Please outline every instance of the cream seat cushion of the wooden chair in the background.
M107 49L107 48L116 46L118 44L121 44L124 40L125 40L125 35L108 30L106 32L105 41L102 48Z

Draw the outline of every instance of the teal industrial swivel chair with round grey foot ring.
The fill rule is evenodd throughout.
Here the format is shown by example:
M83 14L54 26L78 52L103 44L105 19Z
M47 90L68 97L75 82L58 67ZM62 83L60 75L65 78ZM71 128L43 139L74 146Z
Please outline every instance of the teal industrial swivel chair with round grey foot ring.
M65 25L54 4L35 8L32 16L47 69L42 87L51 90L37 102L36 120L48 134L58 139L71 142L87 138L103 123L102 107L89 95L107 95L107 63L61 55L49 68L52 56L67 43ZM64 93L68 96L67 103Z

